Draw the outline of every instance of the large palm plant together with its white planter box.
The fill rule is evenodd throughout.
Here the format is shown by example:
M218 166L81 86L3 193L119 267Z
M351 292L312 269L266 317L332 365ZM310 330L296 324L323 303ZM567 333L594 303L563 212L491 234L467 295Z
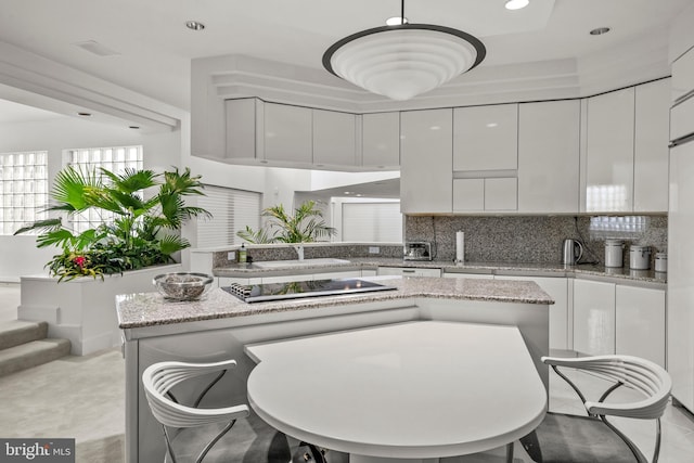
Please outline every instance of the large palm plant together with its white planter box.
M95 209L102 224L76 232L62 218L51 218L17 231L39 230L39 247L62 249L47 263L50 276L21 278L17 318L46 321L49 336L69 339L70 352L77 356L120 344L116 297L152 292L158 273L182 270L172 255L190 243L176 232L188 219L210 217L205 209L185 205L187 196L203 194L200 177L188 168L100 173L72 167L59 172L49 210L69 217ZM61 284L55 284L55 276Z

